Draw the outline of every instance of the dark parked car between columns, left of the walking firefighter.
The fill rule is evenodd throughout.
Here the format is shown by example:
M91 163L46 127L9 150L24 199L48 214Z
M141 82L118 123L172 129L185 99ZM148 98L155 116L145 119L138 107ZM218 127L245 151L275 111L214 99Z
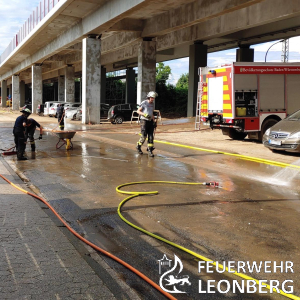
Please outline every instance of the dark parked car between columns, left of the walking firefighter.
M130 121L132 112L137 110L138 107L137 104L130 103L113 105L108 111L107 120L117 124L122 124L123 121Z

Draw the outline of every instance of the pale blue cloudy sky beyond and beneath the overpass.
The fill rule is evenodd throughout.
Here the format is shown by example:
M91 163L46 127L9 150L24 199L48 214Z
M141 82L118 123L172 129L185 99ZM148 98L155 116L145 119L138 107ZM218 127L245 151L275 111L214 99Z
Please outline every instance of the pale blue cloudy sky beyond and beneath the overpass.
M28 19L32 11L39 5L40 0L0 0L0 55L9 45L14 35ZM254 61L265 61L268 48L276 41L252 45L254 48ZM267 55L267 62L281 61L282 44L271 47ZM208 66L215 67L235 61L236 48L208 54ZM300 37L289 40L289 62L300 62ZM170 66L172 74L168 83L175 85L182 74L189 72L189 58L181 58L164 62Z

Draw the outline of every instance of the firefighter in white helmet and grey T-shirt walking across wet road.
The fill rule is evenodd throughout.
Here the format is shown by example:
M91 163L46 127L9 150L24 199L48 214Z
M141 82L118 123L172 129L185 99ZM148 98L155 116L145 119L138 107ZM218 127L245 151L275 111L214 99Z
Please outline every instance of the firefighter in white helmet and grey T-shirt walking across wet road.
M149 92L147 95L147 100L144 100L141 104L137 113L140 115L140 124L141 124L141 138L139 139L136 149L139 154L143 154L141 149L142 145L144 144L146 137L148 136L148 155L153 157L153 133L154 129L156 128L156 122L154 120L154 100L158 96L156 92Z

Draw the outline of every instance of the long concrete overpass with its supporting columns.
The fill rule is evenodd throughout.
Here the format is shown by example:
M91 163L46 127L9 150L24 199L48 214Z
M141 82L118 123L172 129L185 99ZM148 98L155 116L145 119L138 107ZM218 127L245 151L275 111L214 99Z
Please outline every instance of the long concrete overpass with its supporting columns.
M106 72L128 69L127 101L139 103L155 90L157 62L188 56L192 116L207 53L239 47L236 60L253 61L252 44L300 35L299 16L297 0L42 0L1 55L1 96L11 85L18 109L31 84L35 111L43 81L56 80L58 99L74 101L74 76L82 74L83 122L89 111L99 123Z

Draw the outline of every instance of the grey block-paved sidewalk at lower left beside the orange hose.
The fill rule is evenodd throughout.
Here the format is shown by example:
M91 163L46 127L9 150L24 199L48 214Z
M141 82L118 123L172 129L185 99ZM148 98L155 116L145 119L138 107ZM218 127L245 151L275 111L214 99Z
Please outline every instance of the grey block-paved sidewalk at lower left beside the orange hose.
M2 157L0 174L26 189ZM46 205L2 178L0 225L0 299L138 299Z

